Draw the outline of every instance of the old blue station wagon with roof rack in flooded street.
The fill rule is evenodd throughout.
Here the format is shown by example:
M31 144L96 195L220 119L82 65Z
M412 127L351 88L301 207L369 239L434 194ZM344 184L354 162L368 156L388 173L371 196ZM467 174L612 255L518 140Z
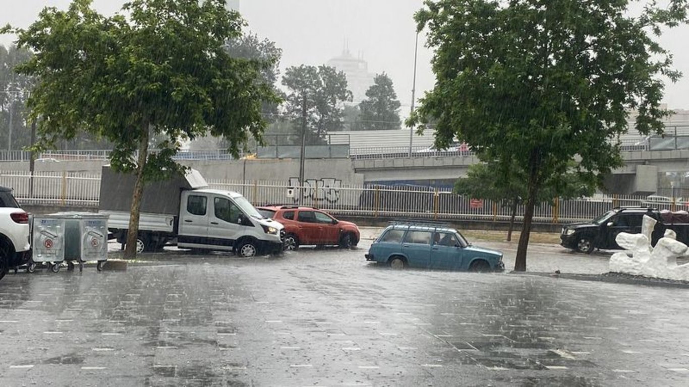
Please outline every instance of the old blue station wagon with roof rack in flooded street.
M463 271L503 271L502 252L472 246L456 229L395 224L371 244L366 259L405 266Z

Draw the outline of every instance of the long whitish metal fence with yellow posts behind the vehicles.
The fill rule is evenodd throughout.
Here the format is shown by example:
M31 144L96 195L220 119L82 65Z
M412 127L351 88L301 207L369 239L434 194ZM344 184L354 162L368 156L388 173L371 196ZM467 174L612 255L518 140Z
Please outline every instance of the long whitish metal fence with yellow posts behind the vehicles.
M237 191L254 205L307 205L336 216L399 217L437 220L504 221L511 216L506 202L475 200L446 189L342 185L338 180L316 180L303 187L285 182L209 180L215 189ZM14 196L26 205L74 205L97 207L100 176L67 172L2 172L0 185L12 187ZM596 196L575 200L553 200L535 208L535 222L590 220L614 207L648 205L643 196ZM659 209L686 209L685 203L650 203ZM524 214L517 207L517 220Z

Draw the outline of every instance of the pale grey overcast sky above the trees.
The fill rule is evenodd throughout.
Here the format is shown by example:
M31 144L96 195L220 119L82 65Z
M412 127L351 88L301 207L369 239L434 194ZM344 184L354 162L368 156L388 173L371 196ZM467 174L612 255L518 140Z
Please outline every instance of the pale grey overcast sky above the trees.
M361 53L371 73L387 72L395 83L406 116L411 103L415 24L413 14L422 0L240 0L249 30L282 48L281 67L320 65L342 53L347 41L353 55ZM123 0L94 0L100 12L112 14ZM44 6L66 8L70 0L0 0L0 25L26 27ZM11 5L10 5L11 4ZM14 38L0 36L0 44ZM668 83L665 102L673 109L689 109L689 27L670 30L661 45L675 56L685 74ZM433 87L431 52L420 41L417 96Z

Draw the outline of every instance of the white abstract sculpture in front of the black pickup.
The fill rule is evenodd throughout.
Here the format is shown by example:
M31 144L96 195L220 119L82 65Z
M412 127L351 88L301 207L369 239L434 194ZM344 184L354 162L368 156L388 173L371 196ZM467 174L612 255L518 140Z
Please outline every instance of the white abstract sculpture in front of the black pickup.
M619 233L615 242L624 252L610 257L610 271L645 277L689 281L689 264L677 265L677 258L686 255L686 244L675 240L675 231L666 230L655 248L650 240L656 220L644 215L640 234Z

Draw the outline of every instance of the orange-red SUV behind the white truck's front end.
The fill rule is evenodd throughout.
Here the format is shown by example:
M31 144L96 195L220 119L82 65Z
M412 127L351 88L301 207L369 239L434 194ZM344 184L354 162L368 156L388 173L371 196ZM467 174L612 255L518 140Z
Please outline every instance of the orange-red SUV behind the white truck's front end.
M320 209L289 205L257 209L266 218L285 225L285 250L294 250L300 244L338 245L349 249L359 243L360 234L356 224L337 220Z

